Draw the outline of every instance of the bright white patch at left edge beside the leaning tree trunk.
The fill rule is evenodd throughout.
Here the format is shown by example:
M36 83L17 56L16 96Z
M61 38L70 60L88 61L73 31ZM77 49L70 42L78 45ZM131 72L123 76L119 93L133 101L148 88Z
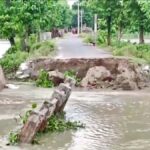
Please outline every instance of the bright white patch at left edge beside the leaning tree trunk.
M9 48L10 43L8 41L0 40L0 58L2 58Z

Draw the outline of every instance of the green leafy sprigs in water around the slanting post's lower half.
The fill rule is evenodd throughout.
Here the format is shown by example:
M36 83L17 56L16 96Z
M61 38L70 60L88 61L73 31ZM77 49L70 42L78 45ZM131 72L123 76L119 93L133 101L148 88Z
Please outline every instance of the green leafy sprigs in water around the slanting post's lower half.
M32 104L32 108L25 112L24 116L20 117L21 123L25 124L31 112L37 107L36 103ZM45 133L64 132L66 130L77 130L84 128L85 125L78 121L66 120L65 112L51 116L47 121L47 126L43 132L38 132L32 144L39 144L39 138ZM8 145L19 144L19 131L11 132L8 137Z

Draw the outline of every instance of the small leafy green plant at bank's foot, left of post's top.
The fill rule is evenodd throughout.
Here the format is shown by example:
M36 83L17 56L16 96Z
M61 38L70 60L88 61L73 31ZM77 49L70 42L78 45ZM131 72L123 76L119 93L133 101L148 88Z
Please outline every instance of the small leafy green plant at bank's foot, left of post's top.
M53 88L54 83L49 79L48 72L45 70L41 70L39 73L39 77L36 80L37 87L44 87L44 88Z

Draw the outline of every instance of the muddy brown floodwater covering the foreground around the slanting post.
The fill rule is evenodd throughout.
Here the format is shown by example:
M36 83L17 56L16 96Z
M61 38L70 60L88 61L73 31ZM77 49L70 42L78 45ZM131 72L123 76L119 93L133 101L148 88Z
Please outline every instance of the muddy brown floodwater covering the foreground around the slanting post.
M136 92L73 91L65 108L70 120L85 129L46 134L41 145L6 146L14 119L32 102L40 104L52 90L22 85L0 93L0 149L2 150L149 150L150 90Z

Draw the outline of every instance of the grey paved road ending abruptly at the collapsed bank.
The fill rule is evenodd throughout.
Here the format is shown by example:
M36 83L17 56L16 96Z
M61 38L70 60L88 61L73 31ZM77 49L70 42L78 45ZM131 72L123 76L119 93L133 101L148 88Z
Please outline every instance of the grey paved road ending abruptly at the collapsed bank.
M56 58L103 58L111 57L110 52L82 42L77 35L69 34L57 41L58 54Z

